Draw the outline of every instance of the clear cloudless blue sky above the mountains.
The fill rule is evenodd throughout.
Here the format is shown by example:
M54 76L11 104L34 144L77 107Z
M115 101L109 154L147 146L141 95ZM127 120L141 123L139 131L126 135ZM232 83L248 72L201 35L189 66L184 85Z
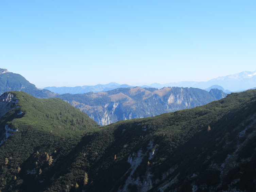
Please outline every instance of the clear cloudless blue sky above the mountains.
M256 1L0 1L0 68L42 88L256 70Z

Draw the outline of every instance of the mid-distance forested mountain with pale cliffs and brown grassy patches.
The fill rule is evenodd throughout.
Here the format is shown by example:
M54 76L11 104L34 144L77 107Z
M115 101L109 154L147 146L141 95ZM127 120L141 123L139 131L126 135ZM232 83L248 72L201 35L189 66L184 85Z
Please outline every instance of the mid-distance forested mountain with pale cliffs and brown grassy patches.
M119 120L153 117L166 112L193 108L226 96L222 90L207 92L198 88L164 87L119 88L106 92L58 95L84 111L100 125Z

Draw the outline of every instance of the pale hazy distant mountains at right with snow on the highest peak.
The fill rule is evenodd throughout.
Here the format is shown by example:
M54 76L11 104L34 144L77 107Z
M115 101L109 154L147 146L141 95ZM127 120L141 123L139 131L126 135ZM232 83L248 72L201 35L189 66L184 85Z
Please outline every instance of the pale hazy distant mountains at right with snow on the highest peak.
M251 89L252 87L256 87L256 71L243 71L241 73L213 78L206 82L181 81L167 84L153 83L150 86L158 89L163 87L195 87L207 89L213 85L219 85L231 91Z

